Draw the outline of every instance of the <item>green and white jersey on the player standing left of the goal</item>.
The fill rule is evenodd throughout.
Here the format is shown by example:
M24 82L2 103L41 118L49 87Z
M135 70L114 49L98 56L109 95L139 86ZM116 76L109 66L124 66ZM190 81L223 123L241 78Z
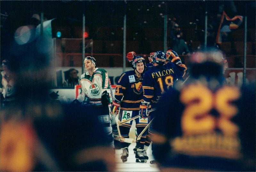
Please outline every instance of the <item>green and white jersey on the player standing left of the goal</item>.
M77 100L88 105L102 105L101 95L107 90L110 93L108 82L108 72L104 69L96 68L90 76L89 72L83 73L80 76L81 93Z

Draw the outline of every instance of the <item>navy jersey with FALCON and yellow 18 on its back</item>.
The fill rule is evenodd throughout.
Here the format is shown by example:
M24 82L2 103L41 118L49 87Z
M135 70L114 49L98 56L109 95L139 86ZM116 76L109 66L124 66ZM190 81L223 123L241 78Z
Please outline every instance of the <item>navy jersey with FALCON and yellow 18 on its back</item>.
M142 82L144 101L157 103L161 95L185 75L186 70L187 67L181 62L179 65L169 62L148 69Z

